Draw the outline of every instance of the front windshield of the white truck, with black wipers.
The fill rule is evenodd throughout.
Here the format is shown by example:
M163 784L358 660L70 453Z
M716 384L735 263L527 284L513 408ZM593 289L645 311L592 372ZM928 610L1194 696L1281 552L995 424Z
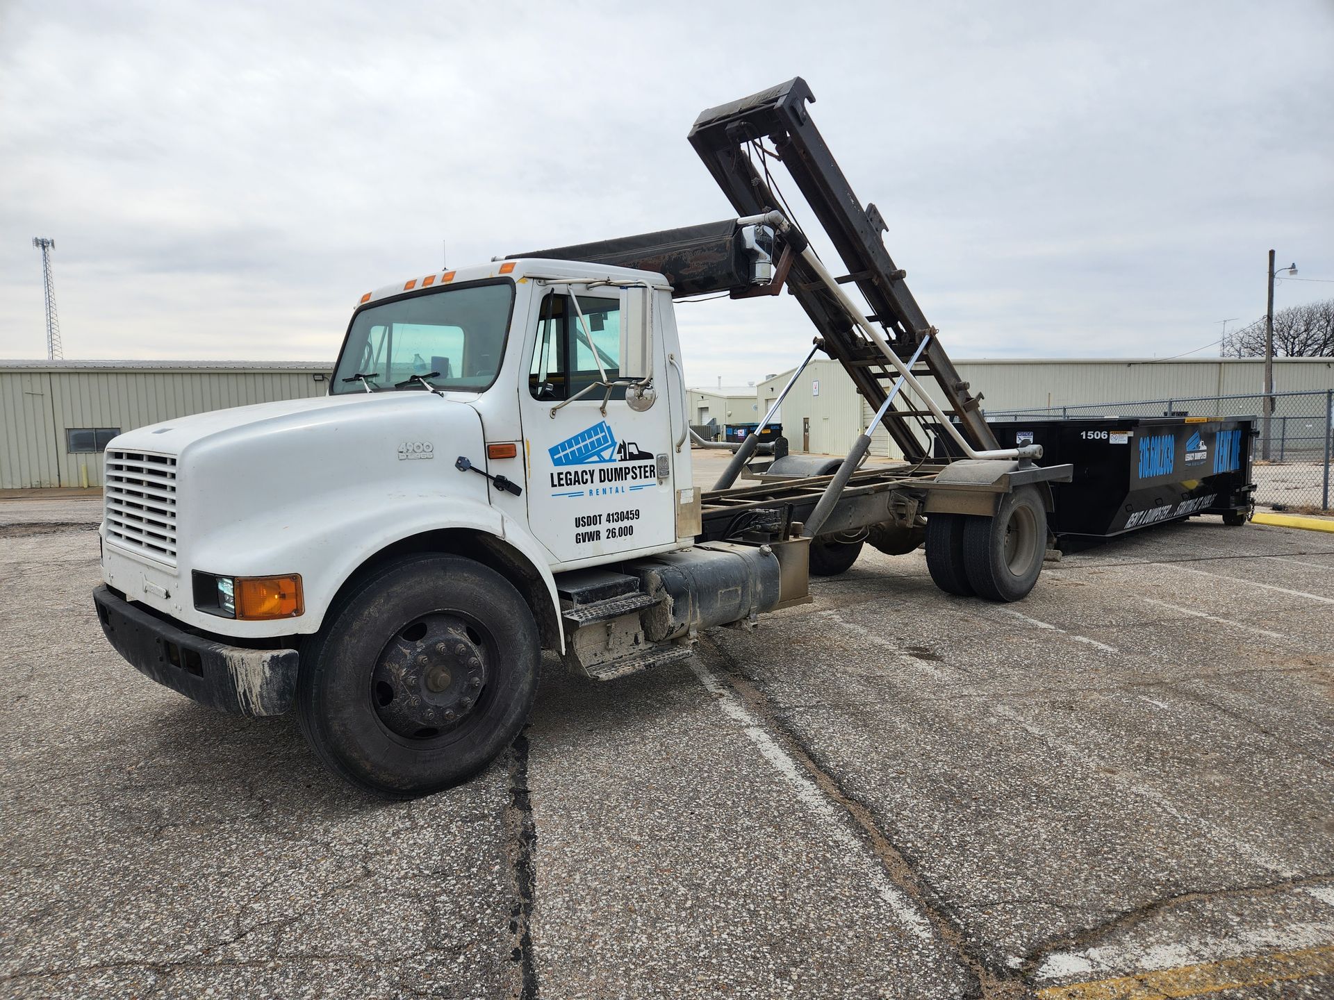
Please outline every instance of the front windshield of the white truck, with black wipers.
M440 389L482 392L500 371L512 304L514 285L500 281L362 309L352 320L331 389L366 392L356 377L364 376L379 392L420 375ZM420 391L422 383L403 388Z

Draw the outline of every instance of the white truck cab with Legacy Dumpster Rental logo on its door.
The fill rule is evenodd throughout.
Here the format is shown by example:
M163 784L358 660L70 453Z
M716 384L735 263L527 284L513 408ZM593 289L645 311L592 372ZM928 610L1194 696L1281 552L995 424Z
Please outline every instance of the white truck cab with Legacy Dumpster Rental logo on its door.
M559 572L694 544L676 516L695 503L679 357L660 275L512 260L372 293L331 393L423 396L410 432L431 451L403 444L438 459L399 477L446 495L484 488L507 532ZM478 421L470 447L436 419L456 407ZM459 456L519 489L462 476Z

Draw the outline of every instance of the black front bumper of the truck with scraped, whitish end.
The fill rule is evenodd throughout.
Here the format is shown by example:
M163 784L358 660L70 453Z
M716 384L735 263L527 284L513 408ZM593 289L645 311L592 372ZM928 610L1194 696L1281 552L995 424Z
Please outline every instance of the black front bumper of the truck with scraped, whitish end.
M296 696L295 649L247 649L187 632L107 587L92 592L107 641L145 677L201 705L281 715Z

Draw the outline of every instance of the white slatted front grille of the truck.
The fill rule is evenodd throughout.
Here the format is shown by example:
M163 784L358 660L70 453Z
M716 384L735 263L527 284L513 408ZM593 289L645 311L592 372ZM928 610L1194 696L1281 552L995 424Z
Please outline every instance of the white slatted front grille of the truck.
M107 452L103 504L107 539L176 565L176 459Z

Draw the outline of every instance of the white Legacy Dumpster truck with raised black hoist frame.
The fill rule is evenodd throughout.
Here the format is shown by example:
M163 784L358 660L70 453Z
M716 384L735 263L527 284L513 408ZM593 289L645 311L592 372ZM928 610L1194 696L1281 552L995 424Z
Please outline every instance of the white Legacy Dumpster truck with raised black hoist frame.
M807 573L863 543L924 541L943 589L1023 597L1070 467L996 444L811 100L795 79L696 121L722 223L415 275L362 296L327 397L116 437L95 592L111 644L205 705L295 709L336 773L412 796L504 751L544 649L603 680L680 660L700 629L808 600ZM762 160L848 273L774 211ZM702 493L674 299L784 288L906 461L863 467L871 428L843 460L752 435Z

